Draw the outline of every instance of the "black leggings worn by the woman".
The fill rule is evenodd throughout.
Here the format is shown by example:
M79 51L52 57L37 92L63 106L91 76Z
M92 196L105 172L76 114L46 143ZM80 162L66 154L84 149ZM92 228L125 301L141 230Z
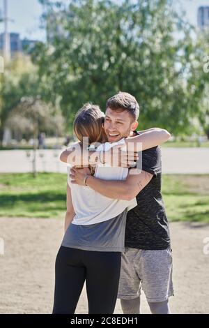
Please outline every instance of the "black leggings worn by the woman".
M83 251L61 246L55 264L53 313L75 313L85 281L88 313L114 313L120 271L120 252Z

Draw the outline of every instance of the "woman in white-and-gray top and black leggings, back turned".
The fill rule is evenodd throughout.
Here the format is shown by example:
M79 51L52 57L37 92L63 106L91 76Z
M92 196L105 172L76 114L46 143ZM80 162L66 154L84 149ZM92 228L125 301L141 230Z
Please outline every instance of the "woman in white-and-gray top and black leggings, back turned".
M150 144L150 135L147 140L146 133L109 144L105 142L103 120L104 113L98 106L86 104L79 110L74 132L82 147L86 147L83 142L86 136L89 144L103 142L100 150L128 144L130 139L134 145L143 142L144 150L168 139L153 129L153 144ZM127 173L126 167L95 168L95 176L102 179L125 179ZM53 313L75 313L85 281L88 313L114 313L126 214L136 205L136 200L112 200L88 186L72 184L68 174L65 236L56 257Z

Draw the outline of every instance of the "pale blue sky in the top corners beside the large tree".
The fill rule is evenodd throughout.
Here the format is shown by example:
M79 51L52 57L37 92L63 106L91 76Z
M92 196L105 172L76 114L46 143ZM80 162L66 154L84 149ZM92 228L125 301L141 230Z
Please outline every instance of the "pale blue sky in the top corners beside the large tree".
M63 0L67 1L68 0ZM209 6L209 0L176 0L186 11L189 22L196 25L197 9L199 6ZM179 6L178 6L179 7ZM3 0L0 0L2 13ZM45 40L45 31L40 29L40 15L42 6L38 0L8 0L8 16L13 20L8 25L10 32L20 33L21 38L31 40ZM0 22L0 33L3 24Z

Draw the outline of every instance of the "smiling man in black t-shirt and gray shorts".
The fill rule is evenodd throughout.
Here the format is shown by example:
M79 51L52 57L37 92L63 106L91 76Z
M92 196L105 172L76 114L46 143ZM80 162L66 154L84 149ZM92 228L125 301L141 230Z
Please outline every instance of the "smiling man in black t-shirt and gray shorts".
M109 142L137 135L139 104L120 92L107 100L104 131ZM67 161L68 152L61 155ZM105 158L104 158L105 161ZM107 181L89 175L86 185L116 199L137 197L137 207L127 213L125 253L122 253L118 298L123 313L140 313L143 288L151 313L168 314L173 295L172 255L169 225L161 195L161 153L159 147L142 151L142 170L130 169L125 181ZM83 184L82 171L72 169L76 184Z

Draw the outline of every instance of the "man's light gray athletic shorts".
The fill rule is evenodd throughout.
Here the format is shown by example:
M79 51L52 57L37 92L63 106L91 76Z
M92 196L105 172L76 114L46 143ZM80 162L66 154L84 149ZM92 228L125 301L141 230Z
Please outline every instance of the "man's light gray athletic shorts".
M173 296L172 251L141 250L125 247L121 258L118 299L134 299L144 290L150 303Z

